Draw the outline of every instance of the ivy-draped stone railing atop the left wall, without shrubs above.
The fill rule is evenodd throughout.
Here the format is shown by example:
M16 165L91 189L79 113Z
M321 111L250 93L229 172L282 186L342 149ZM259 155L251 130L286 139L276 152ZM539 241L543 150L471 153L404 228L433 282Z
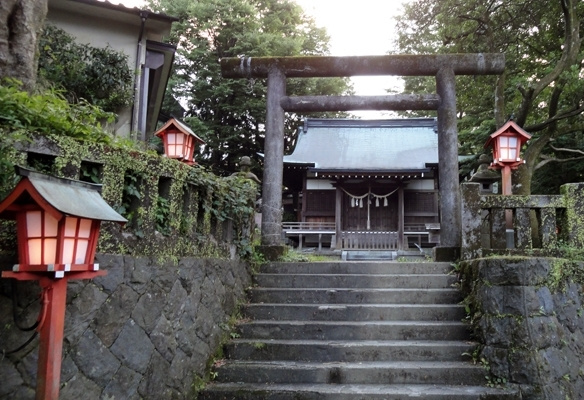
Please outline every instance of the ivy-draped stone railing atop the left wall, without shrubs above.
M12 154L15 164L30 167L31 154L49 155L51 165L36 165L37 170L100 181L102 197L129 222L125 227L102 223L99 252L173 259L229 257L233 245L240 256L251 254L257 193L251 180L218 177L153 151L128 151L64 136L29 137L18 147ZM87 165L93 174L87 174ZM161 178L168 184L166 196L160 194Z

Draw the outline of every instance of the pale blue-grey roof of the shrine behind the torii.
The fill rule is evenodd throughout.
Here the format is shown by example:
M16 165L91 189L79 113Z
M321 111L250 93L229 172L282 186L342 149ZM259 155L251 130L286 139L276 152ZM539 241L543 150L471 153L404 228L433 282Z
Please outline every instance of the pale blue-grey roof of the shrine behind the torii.
M286 165L319 170L417 170L438 162L435 118L307 119Z

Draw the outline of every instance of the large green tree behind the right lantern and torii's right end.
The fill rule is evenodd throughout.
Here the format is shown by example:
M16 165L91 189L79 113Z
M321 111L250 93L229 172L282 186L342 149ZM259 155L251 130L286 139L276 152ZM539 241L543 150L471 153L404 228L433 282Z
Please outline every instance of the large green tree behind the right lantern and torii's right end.
M487 136L513 116L533 135L513 178L516 192L529 194L538 169L584 155L578 139L584 131L583 23L578 0L415 0L398 19L396 47L505 54L504 75L457 78L461 149L482 152ZM406 79L409 92L434 91L429 85Z

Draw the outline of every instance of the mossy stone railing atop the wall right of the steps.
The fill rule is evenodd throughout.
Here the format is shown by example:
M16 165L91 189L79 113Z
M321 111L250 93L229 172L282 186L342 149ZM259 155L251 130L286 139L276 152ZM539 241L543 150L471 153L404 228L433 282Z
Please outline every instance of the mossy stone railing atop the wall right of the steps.
M478 183L466 183L461 194L463 260L553 255L558 241L584 245L584 183L563 185L560 195L532 196L482 194Z

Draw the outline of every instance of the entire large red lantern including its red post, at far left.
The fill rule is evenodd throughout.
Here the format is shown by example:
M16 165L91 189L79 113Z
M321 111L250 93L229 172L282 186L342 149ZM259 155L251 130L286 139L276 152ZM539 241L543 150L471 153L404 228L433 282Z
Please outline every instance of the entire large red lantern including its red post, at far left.
M0 217L16 220L19 264L2 277L42 288L36 398L57 400L67 281L105 275L93 263L100 223L127 221L101 198L101 185L17 172L23 178L0 202Z

